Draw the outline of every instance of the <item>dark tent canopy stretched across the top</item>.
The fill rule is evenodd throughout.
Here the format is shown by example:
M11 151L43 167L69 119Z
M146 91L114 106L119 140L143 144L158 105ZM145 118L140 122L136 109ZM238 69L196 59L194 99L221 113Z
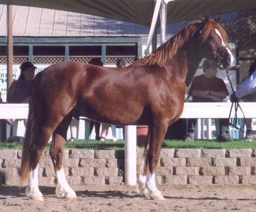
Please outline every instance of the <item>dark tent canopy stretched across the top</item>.
M164 2L162 0L162 2ZM255 0L173 0L166 8L166 23L197 19L207 14L221 14L256 8ZM154 0L0 0L0 4L43 7L151 26ZM160 25L160 20L156 23Z

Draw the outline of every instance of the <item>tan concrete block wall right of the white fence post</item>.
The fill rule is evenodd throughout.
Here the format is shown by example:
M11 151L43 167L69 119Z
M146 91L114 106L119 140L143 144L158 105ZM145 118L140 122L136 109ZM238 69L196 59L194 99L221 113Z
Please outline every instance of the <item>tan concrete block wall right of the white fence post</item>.
M142 157L139 149L137 174ZM255 165L255 149L162 149L155 178L157 184L256 184Z

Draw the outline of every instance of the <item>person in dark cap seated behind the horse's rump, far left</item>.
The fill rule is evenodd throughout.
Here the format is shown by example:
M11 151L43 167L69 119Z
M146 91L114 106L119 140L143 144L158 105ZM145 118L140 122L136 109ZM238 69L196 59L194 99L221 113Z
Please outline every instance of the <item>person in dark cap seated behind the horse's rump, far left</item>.
M35 77L36 69L37 67L29 61L20 65L20 76L18 80L12 82L10 89L7 92L8 103L29 102L30 92L32 89L32 81ZM24 120L24 125L25 127L27 126L27 119Z

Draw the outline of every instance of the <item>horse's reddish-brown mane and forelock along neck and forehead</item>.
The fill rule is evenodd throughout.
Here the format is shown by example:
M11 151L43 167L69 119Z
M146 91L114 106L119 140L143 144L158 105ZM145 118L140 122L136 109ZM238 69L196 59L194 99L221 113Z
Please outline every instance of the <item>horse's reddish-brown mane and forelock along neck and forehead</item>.
M170 38L166 43L163 43L158 49L152 52L147 57L135 61L131 67L139 67L145 65L162 65L170 60L180 47L182 47L196 32L202 30L199 40L203 43L209 37L212 27L219 30L225 42L228 41L227 33L225 30L213 20L208 20L204 25L203 21L195 21L189 23L187 27L180 30L175 36Z

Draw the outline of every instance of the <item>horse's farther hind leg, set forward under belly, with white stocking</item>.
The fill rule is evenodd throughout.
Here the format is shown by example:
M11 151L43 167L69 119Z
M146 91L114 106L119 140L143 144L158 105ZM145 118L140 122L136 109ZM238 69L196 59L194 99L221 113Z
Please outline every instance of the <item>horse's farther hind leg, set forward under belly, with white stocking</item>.
M53 133L52 145L49 151L59 183L56 188L56 196L59 198L77 197L75 191L73 191L70 188L68 181L65 178L64 169L62 165L65 139L67 137L67 130L71 119L72 116L68 114L66 117L64 117L59 126L57 126Z

